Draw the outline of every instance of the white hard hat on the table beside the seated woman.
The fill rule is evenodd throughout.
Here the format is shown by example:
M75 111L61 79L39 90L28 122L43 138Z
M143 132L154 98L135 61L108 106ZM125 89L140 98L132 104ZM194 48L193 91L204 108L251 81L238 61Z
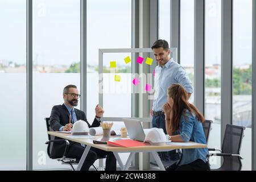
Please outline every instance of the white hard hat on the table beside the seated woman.
M166 144L166 134L163 129L153 127L146 135L144 142L148 142L154 146Z

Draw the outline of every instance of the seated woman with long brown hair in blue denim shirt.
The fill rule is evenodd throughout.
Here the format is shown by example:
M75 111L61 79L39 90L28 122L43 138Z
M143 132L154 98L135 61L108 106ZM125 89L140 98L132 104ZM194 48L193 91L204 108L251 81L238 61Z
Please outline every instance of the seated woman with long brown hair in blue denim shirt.
M187 101L188 94L180 84L173 84L167 90L167 103L163 106L166 115L166 130L172 142L196 142L207 144L202 122L203 115ZM178 131L178 135L172 135ZM179 162L167 170L208 170L205 159L207 148L183 149Z

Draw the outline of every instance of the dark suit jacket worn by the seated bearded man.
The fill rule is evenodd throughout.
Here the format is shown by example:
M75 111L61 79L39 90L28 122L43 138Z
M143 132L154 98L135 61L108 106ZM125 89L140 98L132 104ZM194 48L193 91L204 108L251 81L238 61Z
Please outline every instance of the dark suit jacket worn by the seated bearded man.
M89 127L100 126L100 122L98 122L96 118L94 118L92 125L90 125L86 119L84 111L75 109L75 113L76 113L77 120L81 119L81 120L85 121ZM54 130L54 131L59 131L61 126L67 125L69 123L69 111L68 111L67 107L64 104L53 106L49 122L51 123L52 130ZM55 139L61 139L61 138L55 137ZM69 147L72 147L72 144L74 144L76 142L69 141L69 143L70 143ZM65 142L53 143L52 151L51 151L51 158L63 157L64 150L65 150Z

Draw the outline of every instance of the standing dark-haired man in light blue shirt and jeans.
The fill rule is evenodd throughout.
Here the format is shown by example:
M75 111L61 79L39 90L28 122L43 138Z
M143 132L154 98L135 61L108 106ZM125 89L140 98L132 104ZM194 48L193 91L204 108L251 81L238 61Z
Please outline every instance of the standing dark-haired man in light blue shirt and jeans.
M154 101L150 114L152 118L152 127L158 127L166 133L166 121L164 117L163 105L167 102L167 89L172 84L179 83L184 86L188 93L188 99L193 92L193 86L187 73L180 64L174 59L170 59L170 49L166 40L156 40L151 47L158 66L155 68L154 77ZM166 133L167 134L167 133ZM159 152L162 160L178 160L179 155L176 151Z

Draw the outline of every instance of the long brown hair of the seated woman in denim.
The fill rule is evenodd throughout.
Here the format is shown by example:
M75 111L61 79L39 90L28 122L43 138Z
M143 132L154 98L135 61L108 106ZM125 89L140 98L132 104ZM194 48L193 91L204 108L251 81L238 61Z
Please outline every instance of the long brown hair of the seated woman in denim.
M179 129L179 123L181 115L184 114L185 109L189 110L191 113L194 113L197 119L203 123L204 116L199 112L199 110L188 102L188 94L184 87L180 84L173 84L167 90L168 97L171 97L174 101L171 110L171 122L170 122L170 130L172 133ZM184 117L186 117L184 115Z

